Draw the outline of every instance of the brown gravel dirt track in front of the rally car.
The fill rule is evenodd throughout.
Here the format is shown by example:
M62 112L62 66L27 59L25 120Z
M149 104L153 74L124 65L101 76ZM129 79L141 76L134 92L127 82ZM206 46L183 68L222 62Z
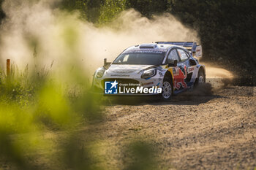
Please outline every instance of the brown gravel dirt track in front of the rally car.
M254 169L256 96L253 87L230 87L211 95L189 93L170 102L157 100L107 106L103 152L108 169L121 169L127 139L151 141L159 148L161 169Z

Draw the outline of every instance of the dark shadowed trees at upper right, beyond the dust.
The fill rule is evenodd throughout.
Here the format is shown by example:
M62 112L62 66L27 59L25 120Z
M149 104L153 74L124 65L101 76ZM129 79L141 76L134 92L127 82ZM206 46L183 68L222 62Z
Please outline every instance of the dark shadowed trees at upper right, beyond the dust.
M185 5L186 4L186 5ZM255 1L173 0L169 11L182 23L196 28L204 58L255 70ZM246 73L244 73L246 74Z

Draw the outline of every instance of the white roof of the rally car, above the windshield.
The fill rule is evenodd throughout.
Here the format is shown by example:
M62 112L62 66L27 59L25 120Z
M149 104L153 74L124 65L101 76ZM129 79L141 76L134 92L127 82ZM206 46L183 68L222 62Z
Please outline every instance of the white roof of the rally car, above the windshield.
M150 44L142 44L142 45L135 45L132 47L127 48L124 50L124 52L129 52L129 51L148 51L148 50L153 50L153 51L161 51L161 52L167 52L170 48L173 47L180 47L184 50L187 50L184 47L178 46L178 45L166 45L166 44L157 44L157 43L150 43Z

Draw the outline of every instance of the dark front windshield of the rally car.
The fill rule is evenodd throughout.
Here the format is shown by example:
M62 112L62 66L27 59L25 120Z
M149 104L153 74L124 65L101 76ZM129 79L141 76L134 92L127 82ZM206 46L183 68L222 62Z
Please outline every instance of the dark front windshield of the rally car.
M133 51L122 53L113 64L161 65L164 58L162 51Z

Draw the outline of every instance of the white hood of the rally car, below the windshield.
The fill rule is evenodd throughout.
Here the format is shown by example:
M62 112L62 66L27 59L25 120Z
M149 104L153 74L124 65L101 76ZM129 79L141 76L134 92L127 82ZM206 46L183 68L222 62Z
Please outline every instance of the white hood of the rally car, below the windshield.
M154 65L128 65L128 64L112 64L108 69L110 73L133 73L140 72Z

